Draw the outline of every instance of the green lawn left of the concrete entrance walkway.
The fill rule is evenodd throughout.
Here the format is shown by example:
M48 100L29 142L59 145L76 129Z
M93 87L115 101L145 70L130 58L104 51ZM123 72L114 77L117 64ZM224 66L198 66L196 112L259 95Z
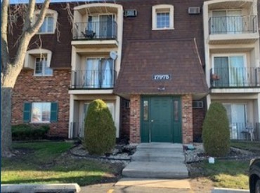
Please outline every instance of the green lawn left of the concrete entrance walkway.
M121 167L98 160L75 159L63 154L66 142L13 143L16 157L1 159L1 184L78 183L89 185L114 181Z

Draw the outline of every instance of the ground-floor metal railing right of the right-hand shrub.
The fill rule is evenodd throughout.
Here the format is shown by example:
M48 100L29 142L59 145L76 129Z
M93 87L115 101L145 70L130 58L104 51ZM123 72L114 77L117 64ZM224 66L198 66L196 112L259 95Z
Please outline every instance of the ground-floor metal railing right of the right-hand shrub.
M229 126L230 139L260 141L260 123L233 122Z

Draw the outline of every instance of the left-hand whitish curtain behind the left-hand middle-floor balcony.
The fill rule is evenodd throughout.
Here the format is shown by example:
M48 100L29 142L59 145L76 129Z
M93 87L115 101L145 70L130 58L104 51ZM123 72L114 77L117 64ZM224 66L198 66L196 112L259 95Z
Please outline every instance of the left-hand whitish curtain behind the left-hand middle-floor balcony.
M86 60L86 71L84 77L85 87L90 87L90 88L99 87L98 63L99 63L99 59Z

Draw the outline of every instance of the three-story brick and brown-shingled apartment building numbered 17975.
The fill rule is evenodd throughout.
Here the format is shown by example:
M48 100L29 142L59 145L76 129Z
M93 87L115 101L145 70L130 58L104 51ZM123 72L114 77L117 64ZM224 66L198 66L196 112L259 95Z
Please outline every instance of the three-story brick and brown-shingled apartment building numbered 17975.
M256 1L70 3L73 18L65 6L51 3L30 43L13 90L13 124L82 137L93 99L108 104L117 138L130 143L199 141L212 101L228 110L233 138L259 122Z

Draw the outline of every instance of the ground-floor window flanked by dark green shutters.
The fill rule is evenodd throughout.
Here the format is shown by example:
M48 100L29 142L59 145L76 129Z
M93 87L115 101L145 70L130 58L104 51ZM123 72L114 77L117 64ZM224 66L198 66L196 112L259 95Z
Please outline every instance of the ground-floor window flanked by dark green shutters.
M58 103L56 102L33 102L25 103L23 109L24 122L57 122Z

